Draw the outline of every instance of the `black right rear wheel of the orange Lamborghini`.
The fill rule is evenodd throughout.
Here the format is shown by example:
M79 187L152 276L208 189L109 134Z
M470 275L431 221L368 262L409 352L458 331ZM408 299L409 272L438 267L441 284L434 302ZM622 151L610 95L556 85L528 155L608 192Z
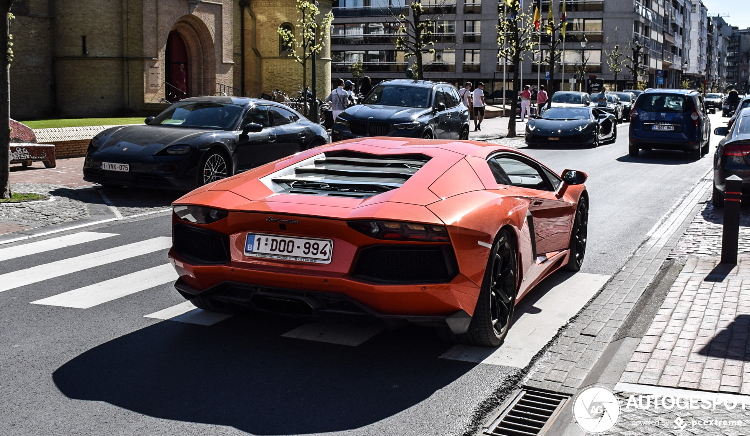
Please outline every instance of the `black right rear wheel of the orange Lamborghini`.
M502 230L490 249L474 316L466 333L441 327L439 335L452 342L497 347L505 340L513 320L518 287L516 247L508 230Z

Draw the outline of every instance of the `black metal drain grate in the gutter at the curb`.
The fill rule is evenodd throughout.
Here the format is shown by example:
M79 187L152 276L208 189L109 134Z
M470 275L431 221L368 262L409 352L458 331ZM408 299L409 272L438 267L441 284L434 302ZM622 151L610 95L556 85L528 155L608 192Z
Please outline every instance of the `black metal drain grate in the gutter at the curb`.
M484 434L492 436L538 436L544 434L557 416L567 395L523 389L497 415Z

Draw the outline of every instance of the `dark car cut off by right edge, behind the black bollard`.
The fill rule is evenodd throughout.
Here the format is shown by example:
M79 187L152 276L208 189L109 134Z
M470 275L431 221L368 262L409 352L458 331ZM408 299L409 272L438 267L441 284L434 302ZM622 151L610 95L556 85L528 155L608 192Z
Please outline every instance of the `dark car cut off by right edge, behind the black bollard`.
M713 155L713 205L724 206L726 179L742 179L742 197L750 194L750 107L738 110L731 128L719 127L713 132L723 138ZM743 198L743 200L745 200Z

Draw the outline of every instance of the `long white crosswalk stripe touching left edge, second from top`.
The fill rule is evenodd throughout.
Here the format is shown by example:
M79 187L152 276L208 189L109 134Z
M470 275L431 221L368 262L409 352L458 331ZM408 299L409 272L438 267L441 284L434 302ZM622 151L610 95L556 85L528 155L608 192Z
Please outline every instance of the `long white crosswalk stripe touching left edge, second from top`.
M95 266L129 259L130 257L142 256L143 254L163 250L172 246L172 238L159 236L146 239L145 241L133 242L132 244L108 248L95 253L83 254L70 259L57 260L56 262L44 263L31 268L20 269L0 275L0 292L27 284L48 280L49 278L68 275Z

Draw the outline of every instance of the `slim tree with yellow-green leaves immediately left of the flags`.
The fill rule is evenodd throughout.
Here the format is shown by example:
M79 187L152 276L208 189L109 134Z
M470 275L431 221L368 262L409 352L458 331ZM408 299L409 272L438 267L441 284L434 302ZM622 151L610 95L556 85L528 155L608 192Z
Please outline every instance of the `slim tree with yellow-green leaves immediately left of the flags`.
M506 0L502 0L506 2ZM520 88L520 61L524 53L531 52L536 47L534 38L534 21L532 14L521 11L517 0L510 0L501 9L499 25L497 26L497 44L499 46L498 57L513 65L513 90L518 92ZM518 109L518 100L513 98L511 115L508 118L508 137L516 137L515 113Z

